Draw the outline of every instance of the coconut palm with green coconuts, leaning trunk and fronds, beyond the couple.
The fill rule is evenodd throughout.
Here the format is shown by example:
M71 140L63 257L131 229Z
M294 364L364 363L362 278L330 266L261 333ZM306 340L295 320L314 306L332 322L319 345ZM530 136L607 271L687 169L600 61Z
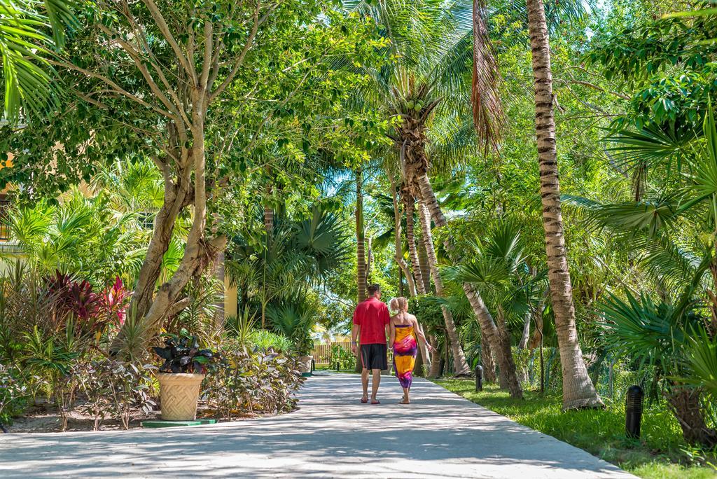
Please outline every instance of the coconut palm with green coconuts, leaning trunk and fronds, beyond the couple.
M385 54L393 61L379 69L367 70L373 81L361 94L386 116L400 118L391 134L394 141L392 156L402 172L407 215L412 213L414 201L419 201L423 245L437 293L441 295L443 288L437 275L430 222L432 219L436 227L442 227L446 221L427 176L430 167L427 150L434 118L439 116L447 123L455 122L465 116L472 105L467 77L470 75L470 45L476 12L473 4L465 0L448 3L430 0L348 1L346 5L348 9L374 19L381 34L391 40ZM481 52L481 66L490 70L495 66L490 49L481 49ZM485 86L484 80L488 77L490 75L480 75L474 82L474 90ZM473 100L481 101L480 95L474 94ZM480 105L483 109L479 118L491 125L498 123L496 118L500 112L493 108L494 105L488 101ZM410 217L407 219L411 221ZM407 233L410 235L411 232ZM409 240L409 249L411 247ZM417 271L415 257L412 252L414 272ZM445 307L442 310L452 343L455 374L468 374L470 368L460 346L455 322L450 310Z

